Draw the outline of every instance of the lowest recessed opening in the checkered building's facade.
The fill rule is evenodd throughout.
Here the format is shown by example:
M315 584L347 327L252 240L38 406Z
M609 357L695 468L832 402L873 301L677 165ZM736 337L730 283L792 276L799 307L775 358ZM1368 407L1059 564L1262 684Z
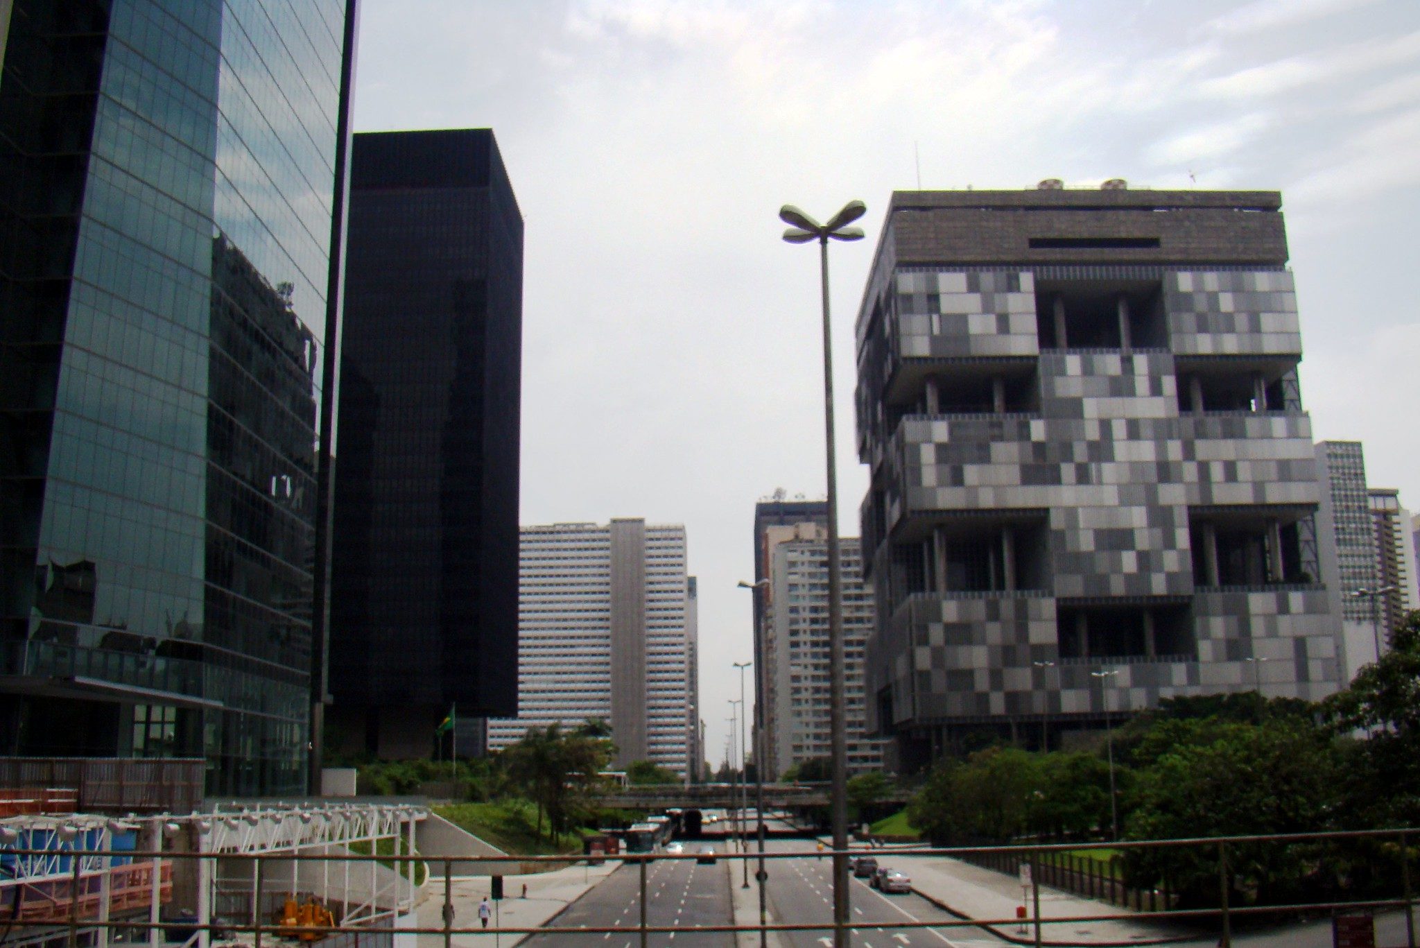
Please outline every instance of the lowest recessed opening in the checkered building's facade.
M1187 603L1072 604L1058 610L1061 658L1193 659L1193 614Z

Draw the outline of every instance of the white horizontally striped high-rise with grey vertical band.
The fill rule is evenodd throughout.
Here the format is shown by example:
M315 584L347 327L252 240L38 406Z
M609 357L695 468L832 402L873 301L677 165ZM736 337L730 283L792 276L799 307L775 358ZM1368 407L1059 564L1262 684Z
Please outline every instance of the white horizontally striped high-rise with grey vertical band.
M652 760L684 776L694 743L694 617L686 529L618 519L525 526L518 543L518 716L488 721L488 746L528 728L612 726L616 769Z

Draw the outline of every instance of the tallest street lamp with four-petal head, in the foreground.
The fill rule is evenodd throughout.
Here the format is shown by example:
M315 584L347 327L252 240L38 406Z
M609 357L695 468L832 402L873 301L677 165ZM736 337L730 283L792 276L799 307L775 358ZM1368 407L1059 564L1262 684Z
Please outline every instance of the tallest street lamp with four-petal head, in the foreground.
M828 242L862 240L862 227L849 227L868 212L861 200L849 200L818 223L794 205L780 208L780 220L790 225L790 243L818 240L819 283L824 308L824 451L828 459L828 648L829 732L834 746L834 948L848 948L848 732L843 722L843 590L838 561L838 472L834 459L834 345L828 321Z

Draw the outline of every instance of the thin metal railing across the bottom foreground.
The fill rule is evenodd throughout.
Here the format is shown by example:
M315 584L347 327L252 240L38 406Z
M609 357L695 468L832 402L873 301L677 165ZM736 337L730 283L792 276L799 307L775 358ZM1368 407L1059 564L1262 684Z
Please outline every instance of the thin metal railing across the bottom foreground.
M694 860L699 858L697 854L667 854L667 853L652 853L652 854L608 854L599 856L599 860L621 861L622 866L618 871L632 867L638 874L638 921L629 925L491 925L484 928L481 924L477 925L454 925L456 911L453 904L453 878L452 866L454 863L463 861L466 857L427 857L427 856L396 856L396 854L371 854L359 856L349 853L243 853L243 854L213 854L200 851L158 851L158 853L138 853L128 851L125 856L136 860L160 860L160 863L176 863L182 864L185 860L210 860L220 861L224 864L241 864L248 863L250 878L253 881L253 893L261 893L263 895L270 895L273 891L284 893L287 880L290 876L283 876L278 870L268 868L268 866L280 864L290 866L291 863L381 863L385 867L396 867L400 874L406 871L413 871L410 866L408 870L403 864L417 864L417 863L435 863L443 864L443 877L439 878L436 874L430 876L427 887L433 891L430 894L437 894L442 898L442 924L439 925L403 925L398 920L386 918L375 925L321 925L318 930L305 930L305 934L318 934L321 937L329 935L365 935L365 945L379 945L385 938L393 938L398 935L442 935L446 948L452 948L454 935L473 935L473 934L498 934L498 935L604 935L604 934L630 934L639 935L639 944L646 945L650 935L660 934L680 934L686 935L690 932L788 932L788 931L819 931L819 932L839 932L839 931L858 931L869 928L893 928L893 930L914 930L914 928L929 928L929 930L949 930L949 928L981 928L991 931L993 934L1003 935L1008 941L1017 944L1034 944L1037 948L1044 945L1055 944L1072 944L1069 941L1055 941L1047 937L1048 930L1064 925L1078 925L1081 922L1102 922L1102 921L1130 921L1130 922L1170 922L1174 925L1173 932L1160 932L1156 939L1133 939L1135 944L1163 944L1169 941L1187 941L1200 937L1218 937L1218 944L1223 948L1230 948L1233 944L1233 930L1234 925L1241 920L1250 920L1257 917L1272 917L1296 920L1308 915L1316 918L1323 918L1326 914L1335 914L1342 911L1365 911L1376 912L1382 910L1404 910L1406 914L1406 945L1407 948L1414 948L1414 894L1411 891L1410 878L1410 839L1420 834L1420 829L1390 829L1390 830L1358 830L1358 831L1325 831L1325 833L1291 833L1291 834L1257 834L1257 836L1228 836L1228 837L1197 837L1197 839L1177 839L1177 840L1146 840L1146 841L1118 841L1118 843L1030 843L1030 844L1015 844L1015 846L973 846L973 847L910 847L910 849L875 849L875 850L851 850L852 856L873 854L876 857L883 857L890 854L893 858L920 858L920 860L967 860L974 863L981 863L983 860L991 858L1007 858L1012 866L1028 864L1032 867L1031 880L1027 884L1028 898L1025 900L1028 910L1025 917L1011 915L1003 918L968 918L954 914L951 918L944 920L912 920L912 921L843 921L834 922L829 918L822 921L777 921L764 924L714 924L714 925L653 925L648 920L648 898L646 898L646 884L648 884L648 867L653 861L660 860ZM1370 841L1379 843L1382 846L1394 847L1397 850L1399 858L1399 891L1393 893L1360 893L1358 898L1349 900L1315 900L1315 901L1292 901L1287 904L1238 904L1238 873L1241 866L1230 863L1230 856L1238 863L1242 863L1242 856L1248 853L1248 847L1257 844L1277 844L1277 846L1292 846L1292 844L1343 844L1348 841ZM1176 901L1173 898L1152 900L1147 905L1140 905L1136 911L1088 911L1078 914L1059 914L1044 918L1041 915L1041 888L1045 885L1042 881L1047 878L1047 873L1041 870L1061 853L1079 853L1088 850L1118 850L1122 853L1132 851L1159 851L1159 850L1194 850L1194 858L1201 860L1206 871L1213 873L1217 880L1217 904L1214 905L1181 905L1172 907L1170 903ZM33 856L43 854L45 850L21 850L14 847L6 847L0 853L10 856ZM71 853L74 856L111 856L106 850L78 850ZM758 853L717 853L717 858L724 860L748 860L748 858L764 858L770 863L791 858L831 858L836 856L832 851L792 851L792 853L764 853L763 857ZM1255 857L1255 853L1252 854ZM567 856L480 856L480 863L487 863L490 866L508 864L511 868L518 868L528 863L559 863L567 864ZM241 912L241 918L180 918L162 921L156 912L156 908L146 918L111 918L108 912L102 908L95 907L92 898L87 898L87 894L92 890L91 881L87 878L89 873L85 873L81 867L85 864L82 858L71 860L71 871L64 873L70 876L68 885L70 891L78 893L84 897L68 900L68 915L62 922L57 924L57 920L50 918L44 922L27 921L24 918L0 918L0 924L9 927L9 931L14 932L16 939L23 939L26 930L40 930L47 932L50 937L61 937L64 930L68 932L67 945L68 948L80 948L80 945L87 941L89 932L106 931L108 934L125 932L129 941L142 938L148 935L155 938L162 934L166 941L168 934L187 934L185 942L186 947L209 948L213 937L230 938L233 934L248 934L254 941L256 948L263 947L263 939L267 939L270 945L270 938L273 935L294 937L295 931L290 924L283 922L278 918L271 917L268 911L251 911L247 914ZM1003 863L1004 866L1005 863ZM768 885L772 885L772 873L770 874ZM440 891L442 890L442 891ZM914 891L919 891L914 888ZM940 901L933 898L926 893L920 893L941 908L947 908ZM1162 904L1160 904L1162 903ZM260 905L260 900L257 905ZM413 907L409 905L409 911ZM953 911L947 908L947 911ZM406 915L408 917L408 915ZM1177 931L1179 924L1191 928L1191 932L1180 934ZM1010 927L1028 927L1027 934L1008 935L1007 930ZM95 939L97 941L97 939ZM351 939L355 942L358 939ZM173 942L169 942L173 944ZM327 944L339 945L346 944L339 938L334 938ZM388 944L392 944L388 942Z

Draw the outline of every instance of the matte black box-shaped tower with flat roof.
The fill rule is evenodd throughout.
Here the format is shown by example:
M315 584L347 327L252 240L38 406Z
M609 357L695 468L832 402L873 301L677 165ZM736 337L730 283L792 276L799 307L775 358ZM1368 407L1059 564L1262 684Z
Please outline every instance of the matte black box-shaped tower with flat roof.
M331 598L334 731L427 756L517 713L523 216L488 129L355 135Z

